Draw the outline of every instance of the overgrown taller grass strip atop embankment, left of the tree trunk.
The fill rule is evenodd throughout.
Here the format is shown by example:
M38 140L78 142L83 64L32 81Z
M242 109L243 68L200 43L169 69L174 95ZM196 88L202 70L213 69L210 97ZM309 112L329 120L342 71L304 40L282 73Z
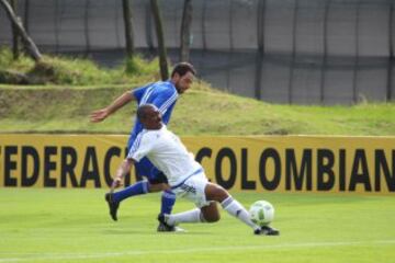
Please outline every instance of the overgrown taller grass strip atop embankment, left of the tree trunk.
M120 67L103 69L92 60L66 57L43 56L43 61L34 61L25 56L13 60L12 53L0 46L0 83L12 83L12 73L26 77L29 84L36 85L138 85L153 81L157 76L158 61L146 61L139 56L126 59Z

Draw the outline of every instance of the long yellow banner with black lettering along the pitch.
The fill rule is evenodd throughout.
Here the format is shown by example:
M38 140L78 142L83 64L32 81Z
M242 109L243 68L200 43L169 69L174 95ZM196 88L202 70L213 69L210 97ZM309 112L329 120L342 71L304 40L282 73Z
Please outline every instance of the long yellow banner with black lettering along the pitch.
M0 135L2 187L108 187L127 136ZM395 137L183 137L208 179L257 192L395 193ZM137 180L132 171L125 184Z

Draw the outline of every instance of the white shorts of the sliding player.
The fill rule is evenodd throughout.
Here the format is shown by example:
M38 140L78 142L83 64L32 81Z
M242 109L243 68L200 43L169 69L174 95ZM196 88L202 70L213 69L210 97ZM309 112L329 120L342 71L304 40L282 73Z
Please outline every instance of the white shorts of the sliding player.
M180 186L173 188L177 197L183 197L193 202L199 208L208 206L210 201L206 199L204 190L208 183L204 172L198 173L187 179Z

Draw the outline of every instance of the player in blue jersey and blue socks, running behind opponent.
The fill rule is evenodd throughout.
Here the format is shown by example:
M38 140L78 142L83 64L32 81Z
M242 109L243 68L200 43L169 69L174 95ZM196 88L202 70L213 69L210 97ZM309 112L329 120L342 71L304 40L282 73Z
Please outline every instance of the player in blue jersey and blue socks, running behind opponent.
M195 70L191 64L180 62L173 68L169 80L149 83L145 87L127 91L109 106L92 112L90 119L93 123L102 122L131 101L136 101L137 107L138 105L147 103L156 105L162 114L162 122L168 124L177 99L191 87L194 80L194 76ZM136 118L127 142L128 150L131 150L132 145L138 138L137 136L142 130L143 125ZM110 215L112 218L117 220L116 210L111 210L111 207L117 207L123 199L135 195L142 195L162 190L165 191L162 192L161 197L160 215L171 214L172 207L176 203L176 195L171 192L171 190L168 190L165 174L155 168L147 158L143 158L139 162L136 162L135 169L137 174L147 178L147 181L139 181L128 187L125 187L123 191L114 193L113 195L106 195L108 203L112 203L110 206ZM112 199L109 199L109 196L111 196ZM158 231L176 230L177 229L174 227L168 227L162 222L159 222Z

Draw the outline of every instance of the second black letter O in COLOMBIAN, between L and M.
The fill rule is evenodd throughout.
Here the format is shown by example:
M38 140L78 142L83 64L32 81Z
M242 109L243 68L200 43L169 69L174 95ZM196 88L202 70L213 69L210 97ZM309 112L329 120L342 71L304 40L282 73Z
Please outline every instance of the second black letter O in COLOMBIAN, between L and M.
M272 159L274 162L274 176L272 181L269 181L266 171L269 159ZM264 190L272 191L279 186L281 180L281 159L275 149L268 148L262 152L259 161L259 179Z

